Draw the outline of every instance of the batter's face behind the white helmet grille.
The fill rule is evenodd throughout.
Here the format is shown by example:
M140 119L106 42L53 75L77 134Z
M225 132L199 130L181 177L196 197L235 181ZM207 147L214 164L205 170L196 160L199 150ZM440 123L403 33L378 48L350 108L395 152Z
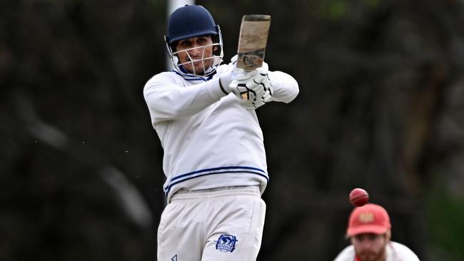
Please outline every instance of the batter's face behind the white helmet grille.
M178 41L176 54L183 67L191 73L203 73L213 64L213 40L211 36L199 36Z

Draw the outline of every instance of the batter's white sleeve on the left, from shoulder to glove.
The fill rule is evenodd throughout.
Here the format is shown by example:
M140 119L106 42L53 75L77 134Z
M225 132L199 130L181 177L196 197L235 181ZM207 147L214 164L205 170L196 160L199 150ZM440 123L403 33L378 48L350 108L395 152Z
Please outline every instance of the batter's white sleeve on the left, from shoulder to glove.
M168 73L160 73L143 88L153 123L192 116L223 96L218 77L192 86L178 86Z

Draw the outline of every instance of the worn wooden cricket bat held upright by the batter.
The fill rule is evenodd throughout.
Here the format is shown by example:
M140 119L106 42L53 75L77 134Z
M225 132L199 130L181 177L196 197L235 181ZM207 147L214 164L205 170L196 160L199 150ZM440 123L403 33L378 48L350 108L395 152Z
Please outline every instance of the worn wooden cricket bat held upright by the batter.
M242 17L237 68L251 71L263 66L270 26L271 16L265 14L246 14ZM248 93L242 93L242 98L248 100Z

